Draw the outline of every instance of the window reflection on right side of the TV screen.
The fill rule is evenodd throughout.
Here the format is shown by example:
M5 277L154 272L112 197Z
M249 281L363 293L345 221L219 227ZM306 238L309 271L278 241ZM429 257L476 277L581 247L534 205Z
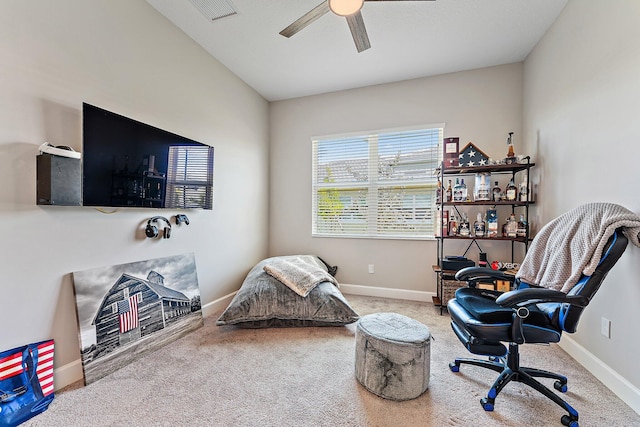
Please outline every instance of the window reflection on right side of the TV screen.
M213 147L169 147L168 208L213 207Z

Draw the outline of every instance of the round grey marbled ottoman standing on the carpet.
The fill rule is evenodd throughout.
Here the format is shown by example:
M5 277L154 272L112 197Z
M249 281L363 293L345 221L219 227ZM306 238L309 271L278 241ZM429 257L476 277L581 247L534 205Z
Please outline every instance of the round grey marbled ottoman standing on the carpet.
M385 399L409 400L429 387L431 334L397 313L360 318L356 327L356 379Z

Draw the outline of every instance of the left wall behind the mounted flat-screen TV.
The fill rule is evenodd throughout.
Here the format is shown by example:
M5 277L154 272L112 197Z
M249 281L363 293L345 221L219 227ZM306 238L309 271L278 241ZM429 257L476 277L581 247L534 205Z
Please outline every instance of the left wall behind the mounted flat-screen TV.
M0 2L0 93L0 349L79 359L74 271L193 252L206 304L266 255L268 103L143 0ZM83 101L214 146L214 210L152 241L177 212L36 206L37 147L80 151Z

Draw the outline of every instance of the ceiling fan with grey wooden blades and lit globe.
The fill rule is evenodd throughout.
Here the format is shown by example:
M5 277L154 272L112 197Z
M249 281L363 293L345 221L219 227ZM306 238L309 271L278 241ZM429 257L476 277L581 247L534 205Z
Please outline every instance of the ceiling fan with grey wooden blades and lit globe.
M284 30L280 31L280 34L289 38L302 30L313 21L320 18L322 15L331 11L338 16L344 16L347 18L349 24L349 30L351 30L351 36L356 44L358 52L367 50L371 47L369 43L369 36L367 35L367 29L364 26L362 14L360 9L364 5L365 1L435 1L435 0L325 0L318 6L311 9L306 14L298 18L293 24L289 25Z

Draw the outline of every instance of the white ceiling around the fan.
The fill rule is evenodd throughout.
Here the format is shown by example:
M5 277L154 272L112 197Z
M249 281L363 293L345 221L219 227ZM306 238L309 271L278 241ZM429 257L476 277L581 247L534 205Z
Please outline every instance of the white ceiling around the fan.
M346 19L327 13L278 34L321 0L228 0L208 20L189 0L147 0L269 101L523 61L568 0L370 1L371 48L356 51Z

